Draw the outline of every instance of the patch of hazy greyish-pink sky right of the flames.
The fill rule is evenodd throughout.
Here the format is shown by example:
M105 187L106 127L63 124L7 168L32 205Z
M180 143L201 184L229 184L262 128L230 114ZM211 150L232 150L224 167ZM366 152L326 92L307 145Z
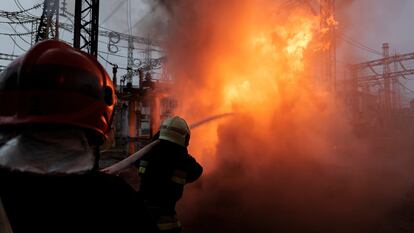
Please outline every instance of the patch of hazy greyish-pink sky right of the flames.
M414 50L414 1L411 0L343 0L337 1L339 34L382 53L382 44L389 43L390 54L410 53ZM349 41L349 38L348 38ZM338 37L338 77L343 78L343 65L378 59L380 56L350 45ZM414 83L403 81L411 89ZM403 90L405 104L414 96Z

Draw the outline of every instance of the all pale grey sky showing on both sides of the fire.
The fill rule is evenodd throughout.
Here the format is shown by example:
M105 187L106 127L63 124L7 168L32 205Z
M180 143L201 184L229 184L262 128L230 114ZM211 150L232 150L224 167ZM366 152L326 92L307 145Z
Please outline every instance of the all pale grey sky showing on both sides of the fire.
M19 0L23 8L29 8L34 4L40 3L40 0ZM150 0L134 0L131 1L131 25L132 33L138 36L151 36L165 31L165 24L158 23L154 25L154 19L159 19L154 12L154 5ZM289 2L289 1L285 1ZM292 2L292 1L291 1ZM316 2L316 1L314 1ZM414 1L411 0L337 0L336 1L337 19L339 21L339 28L341 32L347 36L355 39L372 49L381 52L382 43L390 43L391 52L396 50L398 53L407 53L414 51L414 31L412 30L412 22L414 21L412 12L414 11ZM67 1L69 11L73 12L73 1ZM127 0L105 0L100 3L100 22L102 26L116 31L128 33L128 14L127 7L129 3ZM315 9L316 6L314 5ZM0 9L6 11L19 11L15 1L5 0L1 1ZM35 15L40 15L41 10L32 11ZM2 20L6 21L6 20ZM68 22L65 18L61 21ZM153 28L148 31L147 24L151 24ZM26 25L30 28L30 25ZM144 30L143 30L144 29ZM13 33L13 30L7 24L0 24L1 32ZM19 32L26 32L22 27L16 27ZM62 38L68 41L72 40L72 35L69 32L61 31ZM3 43L0 45L0 53L21 54L23 51L17 46L13 45L13 41L7 36L0 36ZM23 39L30 42L30 37L23 36ZM108 38L100 38L100 49L107 52ZM17 43L23 49L27 49L29 44L20 38L16 38ZM123 42L121 46L126 46ZM139 46L143 49L145 46ZM120 51L116 55L126 56L126 48L119 48ZM120 67L125 67L127 59L116 55L102 54L111 62L117 63ZM136 57L143 57L142 50L135 52ZM157 56L157 55L155 55ZM371 54L364 50L358 49L355 46L339 39L338 43L338 76L344 77L345 70L343 65L349 63L356 63L367 61L369 59L376 59L377 55ZM100 61L106 66L110 72L111 66L104 60ZM7 64L7 61L0 61L0 64ZM125 71L120 70L120 74ZM408 86L414 89L414 83L408 82ZM413 93L405 93L408 99L414 97Z

